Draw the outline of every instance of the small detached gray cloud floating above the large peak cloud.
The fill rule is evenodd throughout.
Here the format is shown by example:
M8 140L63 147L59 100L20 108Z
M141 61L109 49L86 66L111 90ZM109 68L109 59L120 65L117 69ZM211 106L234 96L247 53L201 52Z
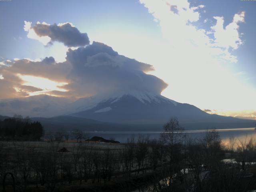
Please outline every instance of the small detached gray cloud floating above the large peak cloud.
M48 36L51 38L50 44L54 41L62 42L68 47L86 46L90 43L86 33L81 33L76 27L70 23L53 25L45 23L37 23L32 27L35 33L42 37Z

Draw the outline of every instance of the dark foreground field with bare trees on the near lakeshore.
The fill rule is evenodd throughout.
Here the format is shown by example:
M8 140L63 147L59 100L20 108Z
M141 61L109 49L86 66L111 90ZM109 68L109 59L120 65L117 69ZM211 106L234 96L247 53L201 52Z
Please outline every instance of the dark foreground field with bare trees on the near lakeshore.
M3 191L247 192L256 189L254 162L254 140L223 146L216 131L200 140L173 131L125 144L0 142Z

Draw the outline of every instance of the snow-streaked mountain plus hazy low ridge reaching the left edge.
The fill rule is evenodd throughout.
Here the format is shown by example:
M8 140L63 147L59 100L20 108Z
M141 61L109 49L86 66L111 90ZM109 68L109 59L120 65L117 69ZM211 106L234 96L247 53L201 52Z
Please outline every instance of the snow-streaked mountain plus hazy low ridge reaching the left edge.
M185 129L246 128L255 125L254 120L208 114L196 106L146 91L97 94L74 102L47 95L0 102L0 108L17 112L18 108L12 106L19 106L26 112L20 114L39 120L50 130L162 130L163 124L172 117L178 118ZM12 116L10 113L2 115Z

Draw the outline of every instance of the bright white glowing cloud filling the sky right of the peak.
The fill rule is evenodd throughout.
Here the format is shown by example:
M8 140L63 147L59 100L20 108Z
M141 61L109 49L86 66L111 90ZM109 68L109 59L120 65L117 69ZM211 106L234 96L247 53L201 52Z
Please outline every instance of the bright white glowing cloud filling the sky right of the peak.
M155 49L140 58L156 69L150 74L169 84L164 96L202 109L256 108L256 90L243 84L228 68L237 62L229 48L237 49L243 43L239 24L244 22L244 12L234 14L226 28L224 18L215 17L217 24L209 32L194 24L199 21L200 12L191 8L187 0L140 2L158 21L166 40L163 44L152 43L150 48ZM171 11L171 6L175 6L179 14ZM214 39L209 36L212 33Z

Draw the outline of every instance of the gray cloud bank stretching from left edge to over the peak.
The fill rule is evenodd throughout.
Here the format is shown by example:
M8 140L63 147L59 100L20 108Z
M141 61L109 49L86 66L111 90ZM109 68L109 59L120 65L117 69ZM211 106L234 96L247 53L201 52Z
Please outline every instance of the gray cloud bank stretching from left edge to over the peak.
M154 68L134 59L119 55L111 47L93 42L76 50L69 49L66 62L57 63L53 57L40 62L27 59L7 62L0 67L2 92L0 98L18 98L42 89L24 85L19 75L47 78L54 82L66 82L58 90L46 90L45 94L82 98L95 94L146 91L160 94L167 84L146 74Z

